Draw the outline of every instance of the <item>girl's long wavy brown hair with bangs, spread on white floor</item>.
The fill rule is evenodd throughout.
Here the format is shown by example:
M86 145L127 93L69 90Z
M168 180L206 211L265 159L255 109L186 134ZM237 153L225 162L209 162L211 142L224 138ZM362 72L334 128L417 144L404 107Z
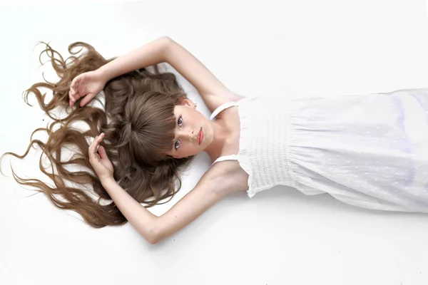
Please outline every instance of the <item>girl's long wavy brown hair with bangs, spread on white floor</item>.
M180 190L180 171L193 158L175 159L166 155L174 139L174 106L179 104L179 98L186 98L174 74L159 73L157 67L153 73L145 68L126 73L106 83L103 88L104 104L99 96L96 97L103 108L96 108L93 104L81 108L80 100L70 107L68 91L73 78L96 70L114 58L106 60L88 43L75 42L68 46L71 56L64 61L49 43L43 44L46 47L39 59L44 53L49 56L48 62L60 79L56 83L45 79L45 82L34 84L24 91L24 100L30 105L29 95L35 95L39 106L53 122L46 128L34 130L24 155L6 152L0 157L0 163L5 155L24 159L32 146L39 145L43 151L40 170L54 181L55 186L38 179L19 177L12 168L16 182L44 192L56 207L77 212L92 227L126 224L126 218L103 189L88 160L90 138L103 132L106 137L102 145L113 162L114 179L118 184L138 202L145 203L145 207L168 202L169 199L162 201L171 199ZM80 50L76 51L76 48ZM53 93L53 98L47 103L46 93L41 93L42 88ZM56 118L56 108L65 109L66 118ZM72 126L79 121L86 123L89 129ZM47 142L34 139L37 132L46 132L49 135ZM69 150L70 146L74 146L73 155L64 160L61 150ZM44 155L49 160L50 172L42 165ZM67 170L66 167L71 165L78 170Z

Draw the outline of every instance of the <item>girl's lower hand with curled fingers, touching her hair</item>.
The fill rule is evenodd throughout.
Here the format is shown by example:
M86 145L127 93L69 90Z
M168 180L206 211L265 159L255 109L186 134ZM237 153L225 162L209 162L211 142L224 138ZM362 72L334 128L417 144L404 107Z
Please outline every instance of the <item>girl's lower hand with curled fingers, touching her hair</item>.
M97 135L95 140L93 140L92 144L89 146L89 162L91 162L93 170L95 170L96 175L101 180L101 182L113 177L114 171L113 165L107 157L106 149L100 145L98 147L99 154L96 150L96 147L103 140L104 136L104 133Z

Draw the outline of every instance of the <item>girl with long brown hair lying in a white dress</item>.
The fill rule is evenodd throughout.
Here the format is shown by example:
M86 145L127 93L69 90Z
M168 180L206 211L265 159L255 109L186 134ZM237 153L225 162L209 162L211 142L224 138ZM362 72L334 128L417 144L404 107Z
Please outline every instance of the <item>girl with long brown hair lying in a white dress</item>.
M65 103L71 107L67 118L56 121L61 128L46 129L46 144L32 141L56 165L59 175L45 172L56 188L17 179L39 187L57 207L73 209L93 227L128 220L155 244L230 192L253 197L275 185L305 195L329 193L367 209L428 212L428 88L333 98L245 98L168 37L109 61L84 43L72 44L69 51L75 46L88 53L72 56L72 64L55 58L58 53L47 46L61 80L37 83L26 94L36 94L47 113ZM144 69L162 62L195 86L212 112L210 120L173 76ZM40 87L54 90L51 103L43 103ZM106 112L86 105L100 92L106 95ZM90 130L72 130L75 120L86 121ZM86 145L85 137L94 135ZM66 143L78 145L80 157L61 162ZM180 188L179 170L202 151L213 165L188 195L161 217L141 206L172 197ZM69 172L64 166L71 163L96 175ZM93 201L64 179L90 183L98 196L113 202Z

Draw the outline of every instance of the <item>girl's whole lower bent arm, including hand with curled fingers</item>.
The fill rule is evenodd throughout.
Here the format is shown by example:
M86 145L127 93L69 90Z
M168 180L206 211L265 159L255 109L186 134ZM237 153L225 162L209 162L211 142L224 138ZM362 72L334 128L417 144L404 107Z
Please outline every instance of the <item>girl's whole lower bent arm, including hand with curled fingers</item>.
M245 189L244 185L238 184L239 168L235 167L238 162L223 162L223 166L216 164L205 172L193 190L168 212L161 217L156 217L113 179L113 164L108 159L104 147L99 145L103 138L103 133L97 135L89 146L89 162L123 216L151 244L156 244L190 224L229 192Z

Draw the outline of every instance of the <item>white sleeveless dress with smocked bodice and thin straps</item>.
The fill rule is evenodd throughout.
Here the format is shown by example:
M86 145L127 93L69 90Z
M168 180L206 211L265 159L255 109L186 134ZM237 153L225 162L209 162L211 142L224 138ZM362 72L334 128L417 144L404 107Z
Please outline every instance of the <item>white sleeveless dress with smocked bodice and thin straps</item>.
M428 212L428 88L335 97L243 98L237 154L248 196L274 187L367 209Z

